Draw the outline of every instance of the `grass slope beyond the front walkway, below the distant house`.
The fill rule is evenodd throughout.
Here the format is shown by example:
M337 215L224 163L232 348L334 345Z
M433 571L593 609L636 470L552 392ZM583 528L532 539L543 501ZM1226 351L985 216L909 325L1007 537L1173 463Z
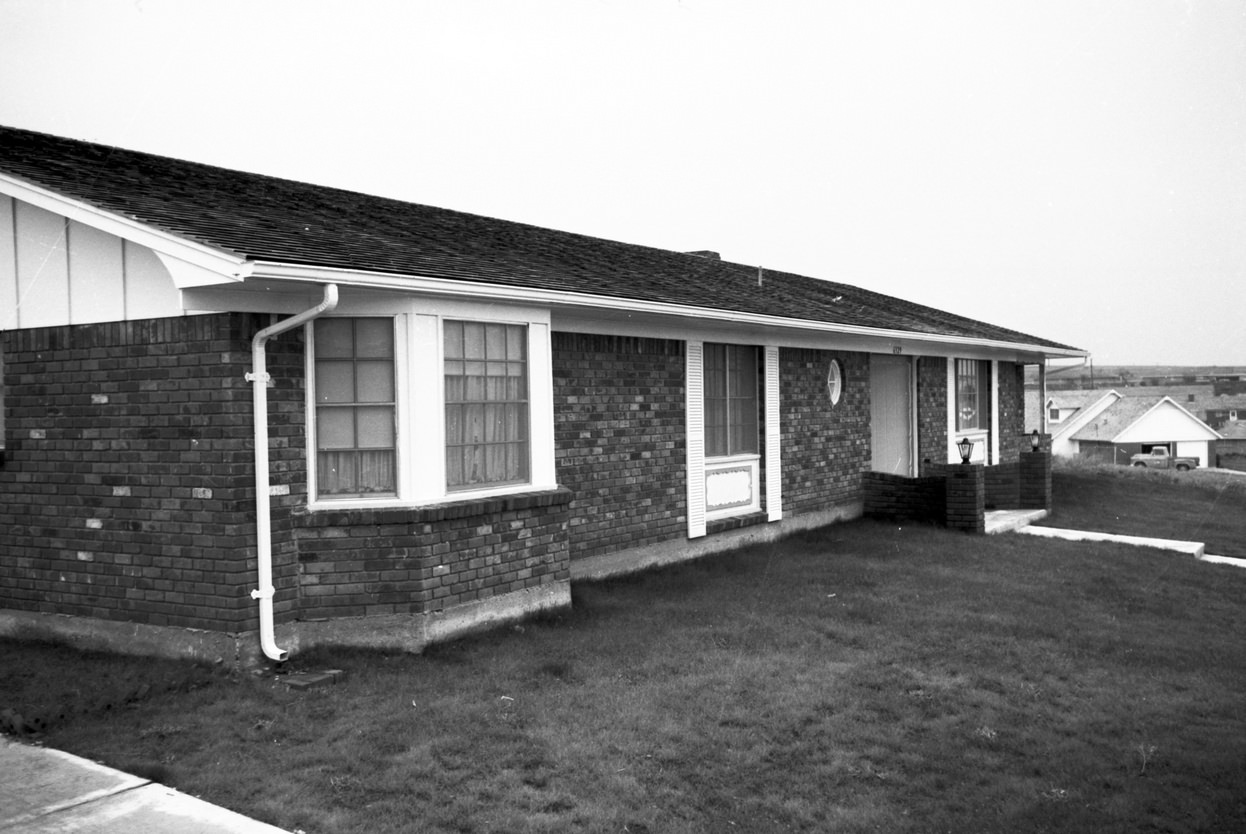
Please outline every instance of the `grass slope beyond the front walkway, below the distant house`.
M1053 484L1045 526L1201 541L1209 554L1246 557L1246 476L1062 461Z

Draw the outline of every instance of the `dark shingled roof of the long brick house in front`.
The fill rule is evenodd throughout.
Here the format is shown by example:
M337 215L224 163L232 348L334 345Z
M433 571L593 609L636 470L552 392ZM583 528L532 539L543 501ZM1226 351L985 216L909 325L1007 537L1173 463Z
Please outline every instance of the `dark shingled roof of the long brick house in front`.
M0 127L5 178L244 262L545 289L967 339L1078 348L756 266Z

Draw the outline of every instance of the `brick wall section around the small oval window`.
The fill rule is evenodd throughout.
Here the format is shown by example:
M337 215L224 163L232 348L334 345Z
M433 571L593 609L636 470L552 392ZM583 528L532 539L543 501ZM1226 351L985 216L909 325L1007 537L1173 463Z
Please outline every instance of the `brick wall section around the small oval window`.
M844 394L831 405L831 359ZM779 352L784 516L861 501L870 469L870 358L863 353Z

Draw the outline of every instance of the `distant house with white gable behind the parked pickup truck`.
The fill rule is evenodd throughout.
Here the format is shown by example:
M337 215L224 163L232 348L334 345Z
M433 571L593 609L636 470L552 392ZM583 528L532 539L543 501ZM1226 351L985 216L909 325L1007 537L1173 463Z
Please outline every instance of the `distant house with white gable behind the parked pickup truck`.
M1075 454L1109 464L1128 464L1136 454L1163 446L1170 455L1215 463L1220 438L1171 396L1124 396L1082 424L1069 438Z

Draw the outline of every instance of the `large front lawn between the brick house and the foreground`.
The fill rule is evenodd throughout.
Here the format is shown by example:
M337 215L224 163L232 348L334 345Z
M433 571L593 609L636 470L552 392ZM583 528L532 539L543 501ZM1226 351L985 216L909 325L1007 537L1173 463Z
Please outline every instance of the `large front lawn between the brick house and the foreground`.
M40 669L0 706L173 683L44 742L308 834L1246 830L1244 600L1158 551L861 521L303 656L346 671L305 692L0 641Z

